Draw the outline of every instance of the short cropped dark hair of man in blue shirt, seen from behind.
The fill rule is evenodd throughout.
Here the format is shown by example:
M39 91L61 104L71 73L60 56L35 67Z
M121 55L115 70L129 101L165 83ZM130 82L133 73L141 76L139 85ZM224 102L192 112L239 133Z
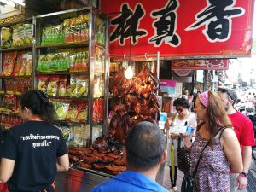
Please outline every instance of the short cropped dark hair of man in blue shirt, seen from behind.
M159 126L148 121L135 125L126 139L127 166L148 171L160 163L166 149L166 137Z

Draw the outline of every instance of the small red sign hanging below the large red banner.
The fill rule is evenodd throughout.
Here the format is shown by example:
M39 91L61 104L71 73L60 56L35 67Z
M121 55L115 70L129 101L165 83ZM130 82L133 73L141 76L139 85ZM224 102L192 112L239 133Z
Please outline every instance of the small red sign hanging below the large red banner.
M223 70L229 68L229 60L173 60L172 69Z

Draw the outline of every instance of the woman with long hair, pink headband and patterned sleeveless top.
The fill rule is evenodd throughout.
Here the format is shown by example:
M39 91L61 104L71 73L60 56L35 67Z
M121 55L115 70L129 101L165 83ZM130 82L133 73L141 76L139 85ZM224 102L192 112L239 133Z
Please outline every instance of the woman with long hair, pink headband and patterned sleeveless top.
M195 100L197 126L195 142L184 138L190 150L191 175L195 172L194 191L230 191L229 172L242 172L241 149L219 96L207 91Z

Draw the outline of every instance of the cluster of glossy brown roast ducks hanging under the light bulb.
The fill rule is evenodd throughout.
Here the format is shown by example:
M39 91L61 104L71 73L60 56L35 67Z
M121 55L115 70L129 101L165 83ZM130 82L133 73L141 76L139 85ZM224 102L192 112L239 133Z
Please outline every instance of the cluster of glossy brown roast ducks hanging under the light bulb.
M155 114L160 112L160 101L154 93L159 89L159 79L143 66L135 79L125 79L125 69L113 75L110 93L113 94L112 110L115 113L108 127L108 135L113 140L125 143L126 136L139 121L154 122ZM133 95L130 93L132 92ZM134 111L136 116L127 113Z

